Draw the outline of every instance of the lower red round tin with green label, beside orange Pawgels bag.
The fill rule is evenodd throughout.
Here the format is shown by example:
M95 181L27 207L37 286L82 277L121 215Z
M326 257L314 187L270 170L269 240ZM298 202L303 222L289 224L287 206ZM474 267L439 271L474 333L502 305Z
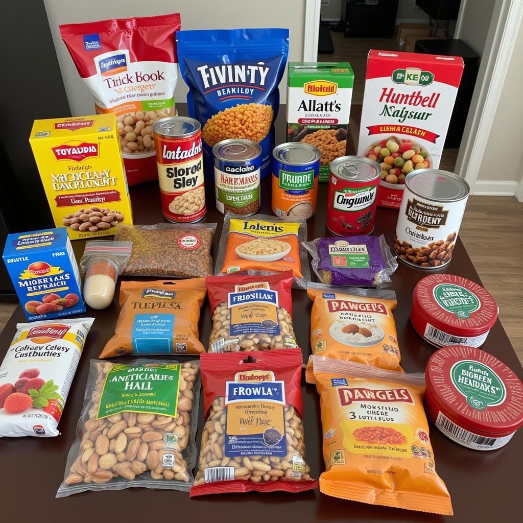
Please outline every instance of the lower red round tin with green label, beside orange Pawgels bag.
M429 419L464 447L498 449L523 425L523 383L484 350L439 349L429 358L425 377Z

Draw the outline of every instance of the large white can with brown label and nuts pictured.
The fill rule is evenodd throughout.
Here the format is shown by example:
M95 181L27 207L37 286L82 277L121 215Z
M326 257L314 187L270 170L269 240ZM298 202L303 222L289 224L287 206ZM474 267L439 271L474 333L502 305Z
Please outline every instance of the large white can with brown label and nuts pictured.
M419 169L405 178L394 251L424 269L447 265L469 197L465 180L438 169Z

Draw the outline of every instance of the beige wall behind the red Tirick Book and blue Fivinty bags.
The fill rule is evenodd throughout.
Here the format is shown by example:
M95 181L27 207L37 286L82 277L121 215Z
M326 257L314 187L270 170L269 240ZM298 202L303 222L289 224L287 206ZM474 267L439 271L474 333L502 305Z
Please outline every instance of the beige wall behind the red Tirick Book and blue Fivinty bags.
M290 29L289 60L303 60L305 38L305 0L44 0L64 80L67 99L73 115L93 112L93 98L76 72L76 67L65 48L58 29L59 24L153 16L180 12L182 29L214 29L237 27L288 27ZM124 6L124 8L122 8ZM280 84L281 102L286 100L287 74ZM184 102L187 87L178 78L175 99Z

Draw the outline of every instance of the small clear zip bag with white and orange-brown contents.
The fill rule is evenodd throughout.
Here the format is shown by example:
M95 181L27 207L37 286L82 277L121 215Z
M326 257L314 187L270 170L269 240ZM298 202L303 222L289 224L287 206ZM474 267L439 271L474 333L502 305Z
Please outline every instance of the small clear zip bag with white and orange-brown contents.
M116 282L131 257L132 242L87 242L80 267L85 276L84 300L93 309L105 309L115 296Z

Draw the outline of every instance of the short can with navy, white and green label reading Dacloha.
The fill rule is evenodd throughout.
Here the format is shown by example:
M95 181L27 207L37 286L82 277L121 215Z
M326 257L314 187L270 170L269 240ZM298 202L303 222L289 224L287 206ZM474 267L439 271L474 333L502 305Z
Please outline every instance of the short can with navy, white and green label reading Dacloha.
M248 216L260 208L261 147L252 140L222 140L212 148L216 208Z

